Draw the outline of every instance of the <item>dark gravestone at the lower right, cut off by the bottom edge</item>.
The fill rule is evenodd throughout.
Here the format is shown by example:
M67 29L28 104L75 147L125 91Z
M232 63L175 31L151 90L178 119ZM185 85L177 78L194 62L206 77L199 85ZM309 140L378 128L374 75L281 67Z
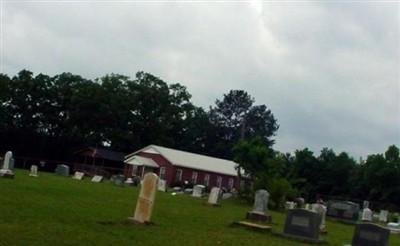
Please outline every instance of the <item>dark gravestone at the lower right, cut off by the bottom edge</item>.
M390 230L371 223L358 223L355 226L351 246L387 246Z

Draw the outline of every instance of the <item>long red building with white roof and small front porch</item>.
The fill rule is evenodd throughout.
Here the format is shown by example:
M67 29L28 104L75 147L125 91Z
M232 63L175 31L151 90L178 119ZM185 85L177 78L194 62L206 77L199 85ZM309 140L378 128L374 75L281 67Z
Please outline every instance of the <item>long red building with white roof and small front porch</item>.
M149 145L125 156L125 177L154 172L167 186L205 185L231 190L239 187L237 163L210 156Z

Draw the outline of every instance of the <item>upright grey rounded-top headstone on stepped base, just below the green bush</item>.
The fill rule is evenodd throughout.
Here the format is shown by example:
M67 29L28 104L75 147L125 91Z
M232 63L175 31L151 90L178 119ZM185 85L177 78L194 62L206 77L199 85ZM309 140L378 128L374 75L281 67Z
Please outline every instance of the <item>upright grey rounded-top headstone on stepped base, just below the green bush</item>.
M256 191L253 210L247 212L246 219L257 220L260 222L271 222L271 216L268 215L268 198L268 191Z

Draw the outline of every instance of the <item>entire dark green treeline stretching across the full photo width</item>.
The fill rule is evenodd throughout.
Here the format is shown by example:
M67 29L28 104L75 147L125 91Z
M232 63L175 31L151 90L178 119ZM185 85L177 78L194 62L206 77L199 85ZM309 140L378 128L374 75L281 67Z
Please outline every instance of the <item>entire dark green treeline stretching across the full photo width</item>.
M0 74L0 153L68 160L87 146L130 153L156 144L240 163L252 189L266 188L278 206L317 194L400 204L399 149L357 162L347 153L307 148L294 155L273 149L279 126L265 105L231 90L205 110L186 87L145 72L95 80L27 70ZM305 143L306 144L306 143Z

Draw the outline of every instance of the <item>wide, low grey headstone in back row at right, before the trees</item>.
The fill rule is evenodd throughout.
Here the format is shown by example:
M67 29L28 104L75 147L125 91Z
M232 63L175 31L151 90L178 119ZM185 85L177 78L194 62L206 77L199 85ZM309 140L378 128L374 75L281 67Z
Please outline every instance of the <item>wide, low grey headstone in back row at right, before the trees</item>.
M327 216L343 221L357 222L360 205L350 201L328 201Z

